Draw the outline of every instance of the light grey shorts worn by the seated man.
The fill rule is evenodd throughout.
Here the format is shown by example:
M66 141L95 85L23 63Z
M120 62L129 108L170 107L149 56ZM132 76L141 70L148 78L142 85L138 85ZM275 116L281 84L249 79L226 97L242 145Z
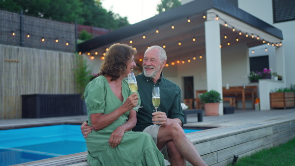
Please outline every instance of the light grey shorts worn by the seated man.
M143 132L148 133L151 136L151 138L153 139L153 141L155 142L155 144L157 144L158 132L159 132L160 127L161 126L158 126L155 124L150 125L150 126L146 127ZM166 159L170 162L166 145L160 151L162 152L164 159Z

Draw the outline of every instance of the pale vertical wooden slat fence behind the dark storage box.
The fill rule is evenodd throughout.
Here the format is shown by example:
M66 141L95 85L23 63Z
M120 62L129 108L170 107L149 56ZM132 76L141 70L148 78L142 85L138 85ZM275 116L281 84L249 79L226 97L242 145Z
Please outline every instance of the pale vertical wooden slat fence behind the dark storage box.
M22 118L22 94L77 93L75 58L73 53L0 45L0 119Z

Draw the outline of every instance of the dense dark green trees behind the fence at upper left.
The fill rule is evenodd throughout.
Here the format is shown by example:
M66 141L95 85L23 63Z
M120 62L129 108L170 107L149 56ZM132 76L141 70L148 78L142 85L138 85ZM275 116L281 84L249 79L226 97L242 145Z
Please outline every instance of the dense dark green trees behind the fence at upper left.
M113 30L129 25L127 17L107 11L100 0L0 0L0 6L35 17Z

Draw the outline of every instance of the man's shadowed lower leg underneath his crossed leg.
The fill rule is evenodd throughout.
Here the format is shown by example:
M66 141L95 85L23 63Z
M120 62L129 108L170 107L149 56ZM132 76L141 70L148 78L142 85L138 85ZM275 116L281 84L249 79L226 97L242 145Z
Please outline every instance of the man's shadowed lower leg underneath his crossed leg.
M177 147L175 146L175 143L173 140L170 140L166 144L168 156L170 160L170 166L185 166L186 162L185 159L181 156L181 154L178 152Z

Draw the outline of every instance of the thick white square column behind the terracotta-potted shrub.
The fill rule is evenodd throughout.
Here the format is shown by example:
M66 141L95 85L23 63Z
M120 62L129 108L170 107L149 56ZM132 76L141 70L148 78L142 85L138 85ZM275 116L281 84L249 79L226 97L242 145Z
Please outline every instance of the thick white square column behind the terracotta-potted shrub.
M222 98L220 27L215 20L205 22L207 90L216 90ZM219 115L223 115L223 103L219 104Z

